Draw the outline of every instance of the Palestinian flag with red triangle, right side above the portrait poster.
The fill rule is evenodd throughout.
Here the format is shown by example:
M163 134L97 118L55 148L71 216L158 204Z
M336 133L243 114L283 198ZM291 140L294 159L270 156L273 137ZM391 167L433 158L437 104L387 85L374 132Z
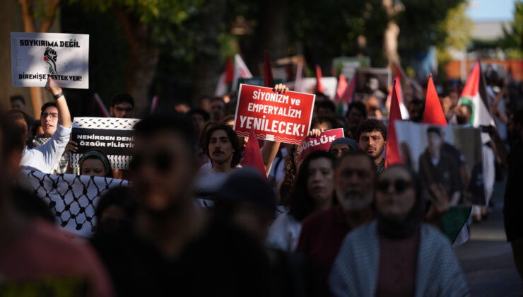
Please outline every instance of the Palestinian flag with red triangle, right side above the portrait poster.
M468 105L471 107L472 115L469 123L473 127L480 125L495 125L490 110L488 108L488 97L486 92L485 78L481 75L481 66L476 62L474 69L466 81L462 91L462 97L459 98L458 106Z

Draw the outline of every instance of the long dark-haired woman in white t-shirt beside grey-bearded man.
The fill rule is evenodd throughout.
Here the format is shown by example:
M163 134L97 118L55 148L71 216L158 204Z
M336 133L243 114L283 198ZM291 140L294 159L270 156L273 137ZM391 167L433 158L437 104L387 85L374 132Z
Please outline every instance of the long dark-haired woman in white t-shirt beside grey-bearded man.
M267 243L293 252L298 247L301 221L334 203L334 156L315 151L301 163L290 192L288 211L280 214L269 229Z

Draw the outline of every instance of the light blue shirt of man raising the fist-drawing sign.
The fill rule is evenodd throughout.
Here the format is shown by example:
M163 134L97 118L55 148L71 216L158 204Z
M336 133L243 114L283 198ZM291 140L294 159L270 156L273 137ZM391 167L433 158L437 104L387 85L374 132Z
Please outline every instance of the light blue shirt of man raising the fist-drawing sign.
M47 144L23 149L20 167L41 171L42 173L51 173L54 164L58 163L65 151L70 134L71 127L66 128L58 124L57 131L47 141Z

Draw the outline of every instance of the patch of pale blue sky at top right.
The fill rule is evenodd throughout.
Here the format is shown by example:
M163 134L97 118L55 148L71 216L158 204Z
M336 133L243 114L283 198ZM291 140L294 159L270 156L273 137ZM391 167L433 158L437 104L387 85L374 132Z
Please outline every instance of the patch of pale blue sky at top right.
M514 3L517 0L469 1L466 13L472 21L512 21Z

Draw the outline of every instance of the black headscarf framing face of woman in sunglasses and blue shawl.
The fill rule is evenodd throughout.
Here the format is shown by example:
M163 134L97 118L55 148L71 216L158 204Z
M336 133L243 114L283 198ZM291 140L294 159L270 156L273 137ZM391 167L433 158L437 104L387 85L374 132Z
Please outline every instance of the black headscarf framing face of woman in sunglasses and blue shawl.
M418 178L418 175L414 171L405 166L405 165L392 165L387 170L391 168L403 168L409 173L409 176L412 180L412 185L416 191L416 201L414 206L412 206L411 211L401 221L387 219L379 211L377 211L377 228L378 232L381 235L384 235L387 238L407 238L410 235L418 232L421 227L421 222L423 221L423 216L425 214L425 197L423 196L423 187L421 181ZM383 172L386 172L384 170Z

